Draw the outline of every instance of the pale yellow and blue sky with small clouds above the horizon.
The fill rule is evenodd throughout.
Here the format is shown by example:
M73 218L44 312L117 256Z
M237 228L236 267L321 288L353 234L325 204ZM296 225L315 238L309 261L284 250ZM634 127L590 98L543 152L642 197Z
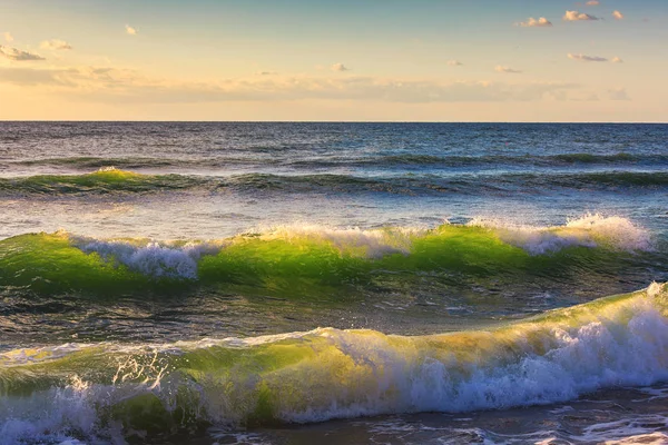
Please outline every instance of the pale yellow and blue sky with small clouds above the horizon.
M668 0L0 0L0 120L668 122Z

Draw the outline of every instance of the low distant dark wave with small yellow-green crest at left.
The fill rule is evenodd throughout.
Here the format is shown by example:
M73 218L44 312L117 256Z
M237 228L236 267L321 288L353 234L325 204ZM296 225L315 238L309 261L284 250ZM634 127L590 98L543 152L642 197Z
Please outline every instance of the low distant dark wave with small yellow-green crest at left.
M383 192L394 195L537 194L541 190L651 189L668 186L665 171L579 171L541 174L461 174L362 177L354 175L246 174L229 177L187 175L141 175L104 168L87 175L42 175L0 178L0 194L13 195L106 195L147 194L173 190L237 192Z

